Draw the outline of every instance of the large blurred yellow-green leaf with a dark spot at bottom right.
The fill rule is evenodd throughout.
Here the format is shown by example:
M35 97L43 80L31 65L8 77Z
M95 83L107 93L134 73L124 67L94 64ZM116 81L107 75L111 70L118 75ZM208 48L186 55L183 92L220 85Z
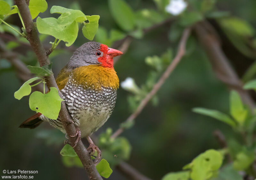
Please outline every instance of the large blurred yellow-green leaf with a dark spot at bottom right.
M220 168L223 161L223 156L220 152L209 149L202 154L199 154L191 162L190 177L193 180L205 180L211 178Z

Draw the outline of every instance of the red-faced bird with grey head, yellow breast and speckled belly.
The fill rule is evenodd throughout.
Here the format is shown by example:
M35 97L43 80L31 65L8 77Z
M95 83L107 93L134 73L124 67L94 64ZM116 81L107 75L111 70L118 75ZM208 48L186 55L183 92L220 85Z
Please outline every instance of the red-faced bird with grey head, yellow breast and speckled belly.
M97 150L96 162L100 160L101 151L90 135L108 120L115 107L119 79L113 67L113 57L122 54L99 42L84 43L74 51L56 78L72 121L80 130L71 137L77 136L76 143L86 137L89 152L93 154ZM19 127L33 129L44 121L66 133L59 117L53 120L39 112Z

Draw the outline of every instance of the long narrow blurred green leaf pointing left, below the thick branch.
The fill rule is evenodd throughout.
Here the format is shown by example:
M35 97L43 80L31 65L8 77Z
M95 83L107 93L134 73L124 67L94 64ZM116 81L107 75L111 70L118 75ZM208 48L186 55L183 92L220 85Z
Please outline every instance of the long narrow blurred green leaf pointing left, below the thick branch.
M212 110L212 109L205 109L205 108L193 108L192 111L195 113L213 117L213 118L218 119L232 127L236 127L236 123L228 115L226 115L220 111Z

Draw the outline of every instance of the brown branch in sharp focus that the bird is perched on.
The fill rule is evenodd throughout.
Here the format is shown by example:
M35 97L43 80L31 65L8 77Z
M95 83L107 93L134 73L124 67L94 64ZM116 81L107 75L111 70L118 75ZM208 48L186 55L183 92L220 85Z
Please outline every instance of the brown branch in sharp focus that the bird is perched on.
M39 36L37 34L37 30L34 26L33 20L30 15L30 11L28 9L28 4L26 3L26 0L15 0L15 4L18 6L20 15L23 19L23 22L26 27L26 32L28 34L28 41L31 44L34 52L36 53L37 59L39 61L40 66L48 65L50 64L48 57L46 56L46 51L39 40ZM62 94L60 93L60 90L56 84L56 81L54 79L54 76L48 76L45 77L46 84L48 88L55 87L59 91L59 95L62 98ZM61 109L59 113L60 120L68 134L68 138L70 140L70 143L72 146L75 145L76 137L72 138L70 135L76 133L76 127L74 124L72 124L72 118L70 117L68 110L66 108L65 102L61 102ZM76 151L76 154L78 155L79 159L84 165L84 169L86 170L89 179L102 179L99 175L97 169L95 168L92 159L89 155L89 152L84 147L81 140L77 143L77 146L74 147L74 150Z

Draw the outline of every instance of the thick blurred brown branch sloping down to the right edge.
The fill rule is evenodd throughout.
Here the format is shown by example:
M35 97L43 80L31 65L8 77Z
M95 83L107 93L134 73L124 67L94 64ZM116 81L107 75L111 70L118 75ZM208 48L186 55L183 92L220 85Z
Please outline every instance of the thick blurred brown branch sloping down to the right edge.
M209 57L212 69L217 78L224 82L230 89L235 89L241 95L243 101L248 104L252 110L255 109L255 103L252 97L248 91L243 89L243 83L228 62L227 56L222 51L219 37L216 36L217 33L214 28L205 21L197 23L194 27L194 31Z

